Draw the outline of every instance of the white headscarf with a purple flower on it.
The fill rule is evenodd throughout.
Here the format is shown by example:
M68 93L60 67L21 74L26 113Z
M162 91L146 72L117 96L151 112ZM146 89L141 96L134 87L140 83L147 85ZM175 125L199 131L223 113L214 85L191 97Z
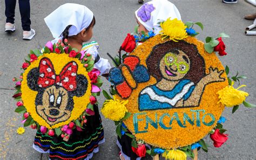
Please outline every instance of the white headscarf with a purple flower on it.
M144 14L143 18L140 18L141 14ZM154 31L156 34L161 31L160 22L163 22L163 20L169 17L171 17L171 19L177 18L181 20L179 10L174 4L167 0L153 0L147 2L135 11L135 15L148 31Z

